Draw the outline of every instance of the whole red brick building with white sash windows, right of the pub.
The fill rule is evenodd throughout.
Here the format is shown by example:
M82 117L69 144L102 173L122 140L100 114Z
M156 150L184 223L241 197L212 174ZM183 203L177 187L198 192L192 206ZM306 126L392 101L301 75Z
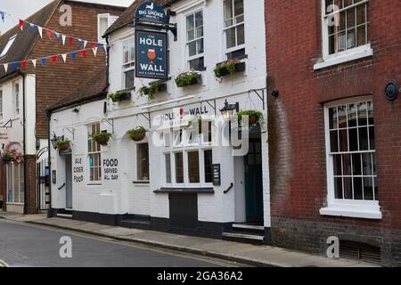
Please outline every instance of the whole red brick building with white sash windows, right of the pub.
M334 2L334 3L333 3ZM338 6L334 6L337 4ZM401 265L401 3L266 0L275 246Z

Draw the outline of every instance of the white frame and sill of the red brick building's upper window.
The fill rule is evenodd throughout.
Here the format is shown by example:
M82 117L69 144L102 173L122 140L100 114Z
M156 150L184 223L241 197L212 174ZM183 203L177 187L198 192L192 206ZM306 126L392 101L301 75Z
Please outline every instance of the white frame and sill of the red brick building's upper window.
M341 9L341 11L348 10L350 8L356 7L361 4L369 4L369 0L363 0L357 4L352 4L347 8ZM314 65L314 69L324 69L327 67L331 67L340 63L355 61L358 59L362 59L368 56L373 55L373 50L371 44L361 45L354 48L350 48L346 51L329 54L329 28L328 21L330 15L326 15L326 4L325 0L321 0L321 14L322 14L322 52L323 52L323 61L317 62ZM369 32L369 31L368 31Z

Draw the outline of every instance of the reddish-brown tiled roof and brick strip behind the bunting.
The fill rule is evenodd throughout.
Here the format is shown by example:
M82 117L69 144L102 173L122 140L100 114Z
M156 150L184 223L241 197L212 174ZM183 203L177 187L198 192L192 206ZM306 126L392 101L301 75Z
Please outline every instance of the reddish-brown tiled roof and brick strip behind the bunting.
M61 4L63 3L61 2ZM74 4L72 2L68 2L68 4L72 8L72 27L61 27L59 22L61 12L57 8L45 28L60 31L67 36L94 42L97 42L97 15L101 13L119 15L123 11L121 8L112 8L110 6ZM106 64L103 48L98 50L96 57L94 57L91 45L86 45L86 48L86 58L83 58L81 54L77 54L76 60L72 61L70 55L68 55L67 63L64 64L61 56L59 56L56 64L47 59L44 68L41 67L38 61L37 69L28 69L29 72L34 72L37 75L37 137L47 137L45 110L53 103L61 100L61 98L69 95L78 85L81 85L90 77L94 77L102 69L102 66ZM76 40L74 40L72 47L69 46L68 39L66 40L66 45L63 46L61 39L60 43L57 43L55 36L49 39L44 32L43 38L37 40L37 44L34 46L29 58L40 58L79 49L80 46Z

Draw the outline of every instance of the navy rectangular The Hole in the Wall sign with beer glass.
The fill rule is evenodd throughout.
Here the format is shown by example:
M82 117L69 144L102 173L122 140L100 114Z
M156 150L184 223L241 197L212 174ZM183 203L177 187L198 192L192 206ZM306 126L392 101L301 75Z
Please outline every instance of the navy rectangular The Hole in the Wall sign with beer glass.
M167 33L135 30L135 76L168 78Z

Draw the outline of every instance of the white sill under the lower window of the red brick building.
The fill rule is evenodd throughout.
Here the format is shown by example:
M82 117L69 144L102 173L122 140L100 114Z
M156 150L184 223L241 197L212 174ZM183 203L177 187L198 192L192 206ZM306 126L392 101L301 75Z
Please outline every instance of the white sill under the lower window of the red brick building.
M353 205L332 205L320 209L322 216L347 216L364 219L380 220L380 206L353 206Z

